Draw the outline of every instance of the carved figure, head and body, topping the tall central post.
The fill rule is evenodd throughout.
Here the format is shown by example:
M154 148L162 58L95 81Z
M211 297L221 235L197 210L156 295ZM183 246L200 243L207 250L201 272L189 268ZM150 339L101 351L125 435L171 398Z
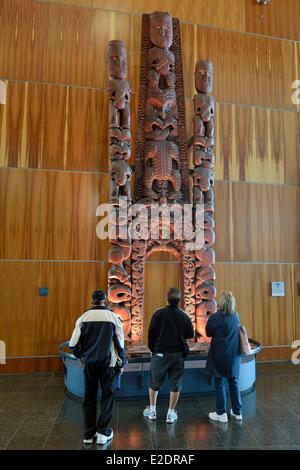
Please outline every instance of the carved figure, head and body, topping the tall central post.
M175 88L175 57L169 49L173 42L173 22L168 13L150 15L149 82L155 88Z

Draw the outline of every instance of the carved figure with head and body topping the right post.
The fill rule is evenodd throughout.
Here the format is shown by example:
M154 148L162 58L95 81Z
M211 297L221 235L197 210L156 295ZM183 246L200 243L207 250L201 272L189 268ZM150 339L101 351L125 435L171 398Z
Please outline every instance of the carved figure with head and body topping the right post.
M214 135L214 99L210 95L212 80L212 63L198 60L195 66L195 86L198 94L194 96L194 136Z

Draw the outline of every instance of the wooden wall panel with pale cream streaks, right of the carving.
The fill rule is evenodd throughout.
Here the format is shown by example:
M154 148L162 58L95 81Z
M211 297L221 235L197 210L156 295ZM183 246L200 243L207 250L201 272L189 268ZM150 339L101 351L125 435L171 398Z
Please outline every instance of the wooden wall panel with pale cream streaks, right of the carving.
M216 177L299 184L299 115L217 104Z

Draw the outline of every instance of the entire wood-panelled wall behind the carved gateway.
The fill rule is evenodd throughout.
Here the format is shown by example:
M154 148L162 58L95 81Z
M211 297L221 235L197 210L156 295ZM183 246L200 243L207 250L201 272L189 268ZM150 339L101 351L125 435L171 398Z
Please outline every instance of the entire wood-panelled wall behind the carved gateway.
M95 233L108 193L105 49L126 42L135 122L141 14L161 4L0 0L0 339L22 358L0 373L59 368L58 343L106 286L108 244ZM182 22L189 133L194 63L215 66L217 288L234 292L249 334L271 346L261 359L289 358L284 346L300 338L299 1L163 5ZM178 266L155 255L149 276L150 311ZM286 283L284 298L271 297L271 281Z

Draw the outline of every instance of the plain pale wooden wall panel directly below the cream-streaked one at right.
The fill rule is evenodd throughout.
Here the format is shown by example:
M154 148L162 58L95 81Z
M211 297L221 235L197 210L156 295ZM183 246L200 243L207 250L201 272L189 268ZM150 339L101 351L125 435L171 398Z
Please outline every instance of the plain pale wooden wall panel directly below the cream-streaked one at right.
M232 188L234 260L298 261L295 188L243 183Z

